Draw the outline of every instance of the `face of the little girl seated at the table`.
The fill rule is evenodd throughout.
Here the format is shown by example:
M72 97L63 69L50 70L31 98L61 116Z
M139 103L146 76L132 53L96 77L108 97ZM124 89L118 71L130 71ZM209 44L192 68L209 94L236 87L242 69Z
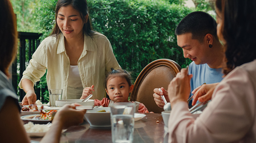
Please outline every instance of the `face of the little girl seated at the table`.
M129 87L124 77L116 76L106 82L106 93L114 102L129 102L128 97L132 89L133 85Z

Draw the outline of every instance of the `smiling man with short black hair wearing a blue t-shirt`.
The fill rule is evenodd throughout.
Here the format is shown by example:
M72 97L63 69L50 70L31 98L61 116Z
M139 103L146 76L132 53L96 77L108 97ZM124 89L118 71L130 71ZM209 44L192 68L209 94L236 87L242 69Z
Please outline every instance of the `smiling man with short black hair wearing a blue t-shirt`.
M175 34L183 56L193 61L188 69L188 74L193 74L190 81L191 92L203 83L220 82L224 52L217 36L217 23L212 16L202 11L192 12L181 20ZM159 92L158 88L154 89L153 96L156 104L162 108L164 102L160 95L164 95L168 102L169 98L167 91L163 87L161 89L163 92Z

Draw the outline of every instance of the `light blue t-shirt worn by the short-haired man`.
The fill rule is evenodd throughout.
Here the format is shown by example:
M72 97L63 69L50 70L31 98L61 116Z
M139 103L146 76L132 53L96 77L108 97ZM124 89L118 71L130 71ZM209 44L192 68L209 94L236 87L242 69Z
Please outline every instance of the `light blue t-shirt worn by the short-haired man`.
M221 72L222 68L212 69L206 63L205 64L195 64L194 62L189 64L188 74L193 74L192 79L190 80L191 92L201 86L203 83L211 84L220 82L223 78ZM189 97L191 96L191 92ZM189 105L192 104L192 100Z

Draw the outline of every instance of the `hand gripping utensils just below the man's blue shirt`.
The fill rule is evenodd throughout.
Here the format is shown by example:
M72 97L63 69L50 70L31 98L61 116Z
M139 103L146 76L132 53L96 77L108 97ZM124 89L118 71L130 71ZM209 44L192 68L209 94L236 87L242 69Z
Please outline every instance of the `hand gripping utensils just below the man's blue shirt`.
M198 101L200 102L205 102L205 101L209 101L212 99L212 93L215 89L215 87L219 84L218 83L213 83L213 84L207 84L207 85L202 85L197 87L196 89L194 89L192 91L193 95L193 101L192 101L192 105L195 105L195 103Z

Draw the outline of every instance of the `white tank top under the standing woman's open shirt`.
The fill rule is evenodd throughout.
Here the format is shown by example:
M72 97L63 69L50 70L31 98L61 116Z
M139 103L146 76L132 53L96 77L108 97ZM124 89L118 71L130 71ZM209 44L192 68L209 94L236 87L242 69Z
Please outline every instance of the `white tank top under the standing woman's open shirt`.
M67 87L67 99L80 99L83 93L78 66L70 66Z

